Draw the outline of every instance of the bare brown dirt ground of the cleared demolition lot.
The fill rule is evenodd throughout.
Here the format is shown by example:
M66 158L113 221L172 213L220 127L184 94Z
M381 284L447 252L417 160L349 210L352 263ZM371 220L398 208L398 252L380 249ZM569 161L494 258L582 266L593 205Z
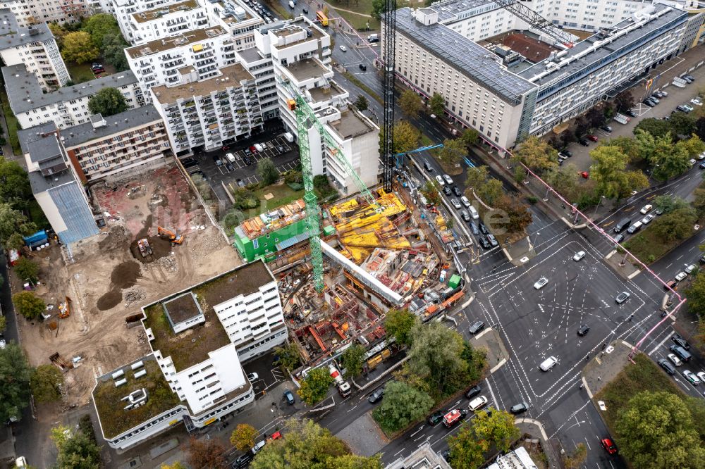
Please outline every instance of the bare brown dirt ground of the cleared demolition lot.
M65 375L67 406L90 400L94 377L149 353L144 330L128 328L125 317L240 263L176 168L92 192L109 220L106 227L71 249L52 244L34 254L41 269L35 293L54 309L48 320L18 320L32 365L50 363L55 352L66 361L81 358ZM159 225L185 235L183 244L172 247L159 238ZM152 256L137 249L142 237L149 239ZM20 281L13 283L18 291ZM71 298L71 317L59 319L65 296Z

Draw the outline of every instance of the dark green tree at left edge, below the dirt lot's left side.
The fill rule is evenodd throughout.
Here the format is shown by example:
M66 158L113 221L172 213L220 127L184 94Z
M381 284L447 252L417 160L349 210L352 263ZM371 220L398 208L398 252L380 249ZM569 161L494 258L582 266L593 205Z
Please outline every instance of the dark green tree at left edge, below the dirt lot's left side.
M22 348L13 342L0 349L0 422L20 420L30 403L32 368Z

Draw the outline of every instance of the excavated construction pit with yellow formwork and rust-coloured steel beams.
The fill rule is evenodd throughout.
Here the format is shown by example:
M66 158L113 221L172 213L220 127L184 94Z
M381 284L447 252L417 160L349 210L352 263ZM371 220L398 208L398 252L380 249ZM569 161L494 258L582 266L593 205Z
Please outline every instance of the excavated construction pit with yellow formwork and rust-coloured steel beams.
M453 273L437 229L408 208L407 194L382 189L372 194L376 206L352 197L321 207L325 287L320 294L314 289L302 201L273 211L275 224L256 217L241 225L247 239L293 240L267 255L274 257L269 265L280 281L290 339L307 365L352 342L383 351L388 343L382 321L390 308L410 308L429 320L464 295L464 281ZM450 239L443 241L451 242L450 230L446 236ZM370 354L368 365L375 359Z

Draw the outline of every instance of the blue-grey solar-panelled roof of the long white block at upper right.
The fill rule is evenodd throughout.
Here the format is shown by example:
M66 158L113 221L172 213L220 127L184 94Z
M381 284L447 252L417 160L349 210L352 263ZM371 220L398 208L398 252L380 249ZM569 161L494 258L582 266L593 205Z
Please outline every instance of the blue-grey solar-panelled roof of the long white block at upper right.
M505 101L520 104L536 85L508 71L495 54L451 30L434 23L423 25L412 15L411 8L400 8L396 14L397 31L418 46L465 73L478 85L490 89Z

